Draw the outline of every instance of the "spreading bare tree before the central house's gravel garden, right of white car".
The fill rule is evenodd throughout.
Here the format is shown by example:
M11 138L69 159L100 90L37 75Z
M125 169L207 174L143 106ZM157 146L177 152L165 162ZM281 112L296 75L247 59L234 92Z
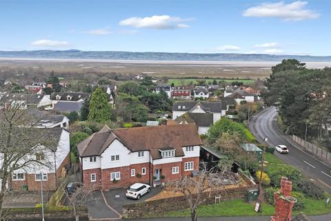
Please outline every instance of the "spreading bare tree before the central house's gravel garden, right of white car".
M210 170L199 171L196 177L183 176L180 180L171 180L167 188L175 193L182 193L190 207L191 220L197 220L197 206L203 197L211 197L213 191L223 189L223 186L239 182L237 175L229 171L230 166L223 164ZM205 195L203 195L205 193Z

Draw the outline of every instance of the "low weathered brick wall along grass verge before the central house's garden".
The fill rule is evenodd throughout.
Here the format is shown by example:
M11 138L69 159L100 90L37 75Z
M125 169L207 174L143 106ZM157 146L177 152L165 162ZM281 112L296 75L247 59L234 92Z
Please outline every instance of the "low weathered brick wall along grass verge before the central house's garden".
M252 186L250 186L252 187ZM256 187L256 186L255 186ZM223 189L201 194L201 204L214 204L215 196L221 196L221 201L244 199L249 187L236 187L233 189ZM152 200L133 204L123 205L123 218L137 219L147 218L151 215L162 216L167 211L178 211L179 209L188 209L188 201L184 196L165 198L161 200Z

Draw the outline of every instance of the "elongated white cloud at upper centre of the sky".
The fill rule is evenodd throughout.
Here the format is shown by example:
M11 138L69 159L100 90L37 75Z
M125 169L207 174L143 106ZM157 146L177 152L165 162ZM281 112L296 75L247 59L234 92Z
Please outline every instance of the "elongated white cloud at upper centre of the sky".
M154 29L175 29L188 28L183 22L192 19L181 19L180 17L170 17L169 15L154 15L152 17L131 17L119 22L121 26L132 26L134 28L154 28Z

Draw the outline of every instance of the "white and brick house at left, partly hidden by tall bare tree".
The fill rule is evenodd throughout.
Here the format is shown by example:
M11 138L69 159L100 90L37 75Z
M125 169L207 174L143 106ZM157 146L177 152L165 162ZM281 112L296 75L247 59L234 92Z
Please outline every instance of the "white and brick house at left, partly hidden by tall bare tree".
M14 128L16 139L12 138L12 146L19 148L23 145L36 145L40 153L26 154L26 163L21 169L13 171L8 185L13 191L40 191L41 180L43 189L55 191L60 184L61 177L66 175L70 167L70 132L64 128ZM48 141L39 148L41 140ZM0 140L0 142L5 142ZM1 144L0 146L3 146ZM46 148L45 148L46 146ZM3 155L0 150L0 155ZM3 157L0 157L0 165ZM29 162L30 160L30 162ZM36 161L40 160L41 163ZM1 180L1 179L0 179ZM0 187L1 188L1 187Z

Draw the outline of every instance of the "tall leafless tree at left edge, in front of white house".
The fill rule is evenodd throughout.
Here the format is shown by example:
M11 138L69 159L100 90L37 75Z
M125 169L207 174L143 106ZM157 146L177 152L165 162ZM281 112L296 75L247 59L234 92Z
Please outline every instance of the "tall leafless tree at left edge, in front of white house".
M4 104L5 108L0 110L0 220L3 199L11 183L12 173L17 170L50 168L54 155L44 159L36 156L47 155L57 148L48 129L35 128L40 119L31 115L30 108L21 102L12 101L11 104Z

